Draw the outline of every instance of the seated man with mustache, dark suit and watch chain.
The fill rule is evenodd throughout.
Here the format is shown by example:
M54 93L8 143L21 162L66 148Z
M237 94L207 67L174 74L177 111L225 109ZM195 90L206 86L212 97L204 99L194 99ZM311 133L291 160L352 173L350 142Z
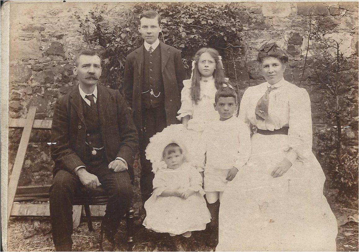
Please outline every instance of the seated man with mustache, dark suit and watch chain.
M138 135L120 92L98 84L101 58L97 52L80 51L73 72L79 84L57 100L52 120L53 242L56 251L71 251L74 192L83 186L102 186L109 200L101 224L101 249L113 251L113 237L133 195Z

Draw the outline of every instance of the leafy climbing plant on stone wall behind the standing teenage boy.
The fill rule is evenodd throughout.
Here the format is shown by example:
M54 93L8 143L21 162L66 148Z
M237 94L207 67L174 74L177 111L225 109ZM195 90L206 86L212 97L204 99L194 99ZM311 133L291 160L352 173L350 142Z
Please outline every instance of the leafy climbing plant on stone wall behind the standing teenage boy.
M75 13L88 47L102 49L102 81L111 88L121 88L126 56L143 43L138 33L138 16L145 10L161 15L163 29L159 39L182 51L187 76L190 76L191 59L201 47L217 49L224 62L243 53L239 21L242 13L233 3L141 3L123 10L116 23L109 21L111 10L96 8L85 17Z

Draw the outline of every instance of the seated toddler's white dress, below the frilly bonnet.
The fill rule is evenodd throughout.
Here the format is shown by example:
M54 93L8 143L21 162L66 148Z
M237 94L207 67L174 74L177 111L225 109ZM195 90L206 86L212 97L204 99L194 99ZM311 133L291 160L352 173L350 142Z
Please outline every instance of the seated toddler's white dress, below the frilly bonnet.
M153 194L145 202L146 218L143 225L159 233L182 234L187 231L204 230L210 222L202 177L196 168L186 162L177 169L158 169L153 179ZM196 191L187 199L160 194L165 189Z

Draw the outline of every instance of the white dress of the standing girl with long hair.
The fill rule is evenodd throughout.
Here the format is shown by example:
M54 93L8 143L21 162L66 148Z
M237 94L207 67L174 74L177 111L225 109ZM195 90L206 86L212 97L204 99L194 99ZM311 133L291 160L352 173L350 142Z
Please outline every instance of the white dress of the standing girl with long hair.
M207 80L207 82L203 80ZM190 115L191 119L188 121L187 129L203 131L209 122L219 120L220 118L218 112L213 107L217 89L213 76L202 78L200 81L200 101L195 104L191 98L191 83L192 80L183 81L184 87L181 92L182 104L177 112L177 119L181 120L182 117Z

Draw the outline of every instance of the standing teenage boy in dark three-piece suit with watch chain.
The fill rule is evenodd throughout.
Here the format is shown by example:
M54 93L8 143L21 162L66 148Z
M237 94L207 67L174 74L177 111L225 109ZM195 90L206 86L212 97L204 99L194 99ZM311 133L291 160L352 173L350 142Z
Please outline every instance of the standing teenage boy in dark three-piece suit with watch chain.
M140 187L144 203L153 191L154 178L145 149L151 136L178 123L176 116L186 73L180 51L158 39L162 31L160 15L145 11L139 16L139 23L144 45L126 58L123 89L140 137Z

